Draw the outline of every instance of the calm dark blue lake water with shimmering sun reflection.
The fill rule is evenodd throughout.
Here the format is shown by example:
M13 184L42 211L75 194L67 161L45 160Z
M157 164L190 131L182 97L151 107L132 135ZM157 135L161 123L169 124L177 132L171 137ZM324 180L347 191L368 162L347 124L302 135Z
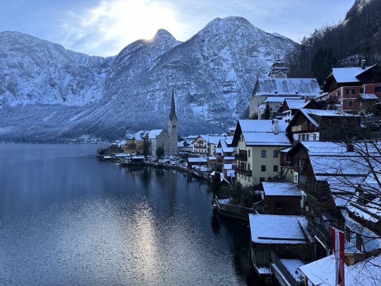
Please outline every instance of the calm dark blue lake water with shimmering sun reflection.
M0 144L0 285L255 285L249 233L208 184L99 145Z

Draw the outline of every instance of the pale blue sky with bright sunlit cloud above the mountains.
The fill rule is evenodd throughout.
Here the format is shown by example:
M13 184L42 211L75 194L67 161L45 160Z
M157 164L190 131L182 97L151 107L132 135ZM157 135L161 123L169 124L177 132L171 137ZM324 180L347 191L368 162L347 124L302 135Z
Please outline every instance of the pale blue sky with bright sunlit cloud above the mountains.
M95 56L117 55L158 29L186 41L214 18L242 16L295 42L337 23L354 0L0 0L0 31L12 30ZM327 8L328 7L328 8Z

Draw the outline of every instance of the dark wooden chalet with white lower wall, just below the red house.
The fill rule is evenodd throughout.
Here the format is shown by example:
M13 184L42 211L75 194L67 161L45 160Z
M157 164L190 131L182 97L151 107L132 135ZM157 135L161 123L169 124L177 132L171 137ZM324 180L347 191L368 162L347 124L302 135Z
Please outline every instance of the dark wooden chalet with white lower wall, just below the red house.
M361 116L337 110L300 108L287 126L295 141L340 141L358 136Z

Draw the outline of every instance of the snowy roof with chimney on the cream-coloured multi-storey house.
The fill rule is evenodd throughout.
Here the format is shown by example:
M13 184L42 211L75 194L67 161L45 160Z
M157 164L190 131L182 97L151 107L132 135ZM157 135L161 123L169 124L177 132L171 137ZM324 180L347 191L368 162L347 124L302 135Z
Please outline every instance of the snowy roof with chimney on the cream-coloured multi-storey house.
M287 123L278 121L278 134L272 130L272 120L239 120L239 132L234 135L235 142L241 133L244 135L246 145L248 146L291 146L286 134Z

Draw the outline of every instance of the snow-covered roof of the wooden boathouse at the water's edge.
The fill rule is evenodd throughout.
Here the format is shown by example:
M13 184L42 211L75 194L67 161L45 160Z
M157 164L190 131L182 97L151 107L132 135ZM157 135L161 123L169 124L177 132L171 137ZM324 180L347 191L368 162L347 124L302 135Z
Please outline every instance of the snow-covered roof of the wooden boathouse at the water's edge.
M304 216L249 214L249 220L254 243L306 244L309 241L304 233L312 239L307 230L308 221Z

